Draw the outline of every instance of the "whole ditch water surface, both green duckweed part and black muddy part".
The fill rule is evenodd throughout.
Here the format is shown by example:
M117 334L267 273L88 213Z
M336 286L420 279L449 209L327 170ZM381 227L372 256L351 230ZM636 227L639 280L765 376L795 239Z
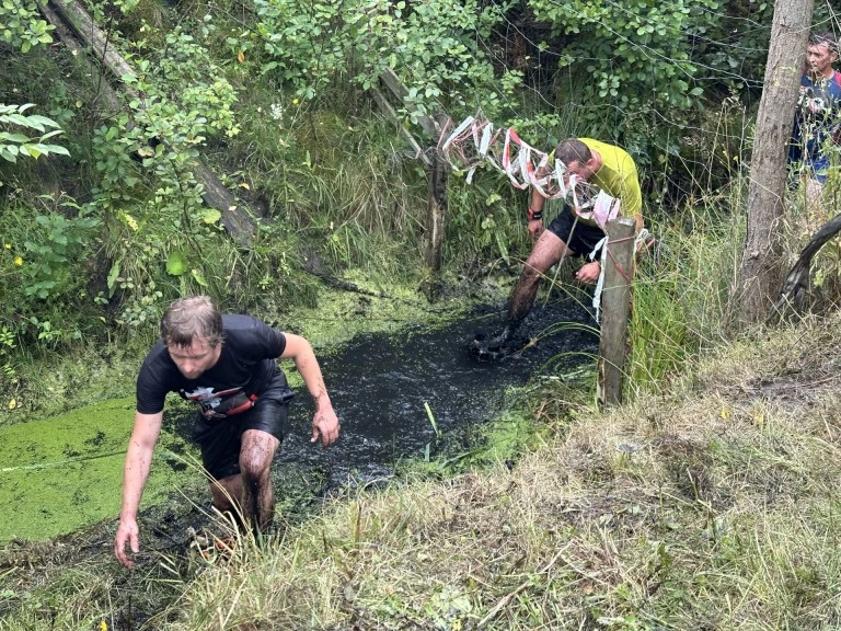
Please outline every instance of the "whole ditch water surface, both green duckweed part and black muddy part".
M499 309L484 307L443 326L361 334L320 353L342 437L327 451L310 444L311 401L298 386L277 455L281 503L287 493L293 503L385 480L401 459L470 449L475 429L505 405L507 389L541 372L591 364L597 351L588 311L567 299L534 310L514 354L479 360L474 335L492 332L500 320ZM2 428L0 500L16 518L3 520L0 542L41 540L115 516L133 418L134 399L126 398ZM192 423L191 410L171 398L145 506L164 502L174 489L204 485L189 445Z

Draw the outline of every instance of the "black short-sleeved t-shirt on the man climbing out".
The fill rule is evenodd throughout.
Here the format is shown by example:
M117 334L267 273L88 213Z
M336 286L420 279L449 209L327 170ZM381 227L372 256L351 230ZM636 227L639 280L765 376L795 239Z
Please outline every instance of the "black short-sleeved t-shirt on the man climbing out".
M157 414L166 393L177 392L212 417L233 401L260 395L280 372L276 358L286 348L286 337L251 316L222 316L222 326L219 360L198 379L181 374L163 341L152 346L137 376L137 411Z

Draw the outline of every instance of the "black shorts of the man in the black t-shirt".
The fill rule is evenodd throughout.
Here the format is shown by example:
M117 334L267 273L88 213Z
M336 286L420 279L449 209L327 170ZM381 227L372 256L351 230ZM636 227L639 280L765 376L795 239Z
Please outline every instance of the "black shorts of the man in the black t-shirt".
M205 418L198 414L193 427L193 439L201 448L201 462L216 480L240 472L240 446L246 429L260 429L284 439L289 420L289 400L295 393L278 371L254 408L224 418Z

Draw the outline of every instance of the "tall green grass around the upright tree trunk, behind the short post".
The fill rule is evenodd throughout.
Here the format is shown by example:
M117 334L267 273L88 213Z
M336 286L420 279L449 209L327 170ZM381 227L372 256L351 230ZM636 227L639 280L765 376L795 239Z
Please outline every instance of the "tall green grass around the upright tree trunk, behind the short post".
M737 163L744 162L736 160ZM779 226L784 268L836 213L839 182L833 174L822 198L810 198L806 182L786 194ZM627 385L631 392L663 391L690 368L699 354L729 337L735 314L729 296L745 242L748 177L733 172L719 192L688 200L677 216L655 226L658 243L637 267L631 319ZM841 299L841 251L830 241L813 261L813 308L831 310Z

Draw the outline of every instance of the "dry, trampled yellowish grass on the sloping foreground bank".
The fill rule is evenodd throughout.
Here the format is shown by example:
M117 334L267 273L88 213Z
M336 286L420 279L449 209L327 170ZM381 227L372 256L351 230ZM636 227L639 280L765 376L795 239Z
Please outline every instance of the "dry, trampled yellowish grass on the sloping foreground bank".
M267 546L160 555L128 583L107 546L7 563L0 629L129 628L131 594L169 603L131 628L168 631L837 629L839 324L719 344L603 416L552 381L535 452L355 492Z

